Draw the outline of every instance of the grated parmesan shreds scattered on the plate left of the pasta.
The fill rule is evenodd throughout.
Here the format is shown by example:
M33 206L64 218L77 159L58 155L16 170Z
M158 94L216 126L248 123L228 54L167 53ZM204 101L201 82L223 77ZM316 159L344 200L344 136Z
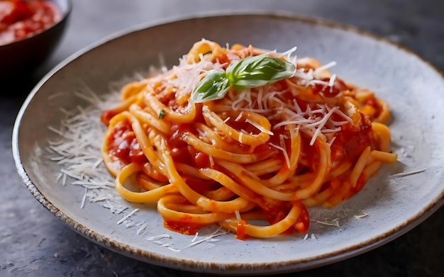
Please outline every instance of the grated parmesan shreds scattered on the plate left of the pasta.
M140 79L142 78L141 76ZM116 83L116 89L127 82L128 80ZM112 91L116 91L116 89ZM97 140L97 137L104 137L106 132L106 128L99 121L101 112L113 106L113 103L118 101L119 95L118 93L108 94L105 99L100 99L89 89L84 89L76 95L89 105L85 108L78 106L73 111L60 108L62 115L65 115L65 117L62 117L60 126L48 128L55 135L55 138L51 137L48 140L48 146L45 147L49 155L48 160L60 166L60 172L57 173L55 179L62 186L83 188L80 208L84 208L88 202L100 203L103 208L110 210L113 214L123 214L129 207L114 190L115 180L103 165L100 152L102 142ZM57 98L57 96L53 96L53 98ZM135 233L142 234L147 229L148 224L135 221L133 217L138 211L139 209L135 208L130 213L123 215L116 222L116 225L123 225L126 228L138 227ZM216 242L218 239L215 239L215 237L227 233L220 231L219 228L209 237L204 237L199 241L196 241L198 239L196 236L191 244L182 247L182 249L194 247L204 242ZM174 248L172 243L157 242L160 239L171 238L169 234L160 234L146 239L159 244L160 247L166 247L172 249L172 251L181 251L182 249Z

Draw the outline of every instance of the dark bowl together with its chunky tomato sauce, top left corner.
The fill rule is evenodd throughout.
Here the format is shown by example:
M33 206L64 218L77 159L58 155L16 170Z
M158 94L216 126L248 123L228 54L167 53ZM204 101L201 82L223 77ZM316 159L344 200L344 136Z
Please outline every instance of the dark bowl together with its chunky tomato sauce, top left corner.
M71 10L71 0L0 0L0 80L25 78L45 62Z

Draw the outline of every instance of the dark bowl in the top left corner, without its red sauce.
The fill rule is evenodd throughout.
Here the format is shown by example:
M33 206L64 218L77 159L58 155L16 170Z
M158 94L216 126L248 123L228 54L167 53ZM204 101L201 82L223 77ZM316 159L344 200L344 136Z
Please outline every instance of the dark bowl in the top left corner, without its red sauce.
M0 81L28 76L50 57L60 43L72 10L72 0L50 1L60 9L61 20L29 38L0 45Z

